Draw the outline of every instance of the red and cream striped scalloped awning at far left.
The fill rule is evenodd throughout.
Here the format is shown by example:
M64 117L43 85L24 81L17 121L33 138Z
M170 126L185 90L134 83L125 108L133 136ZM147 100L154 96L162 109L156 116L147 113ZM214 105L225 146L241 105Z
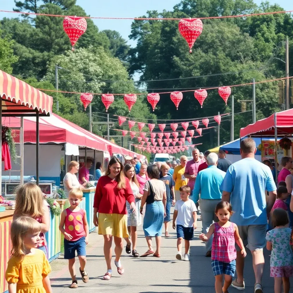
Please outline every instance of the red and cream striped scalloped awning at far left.
M51 96L2 70L0 70L0 97L4 115L29 115L38 111L41 116L49 116L52 113Z

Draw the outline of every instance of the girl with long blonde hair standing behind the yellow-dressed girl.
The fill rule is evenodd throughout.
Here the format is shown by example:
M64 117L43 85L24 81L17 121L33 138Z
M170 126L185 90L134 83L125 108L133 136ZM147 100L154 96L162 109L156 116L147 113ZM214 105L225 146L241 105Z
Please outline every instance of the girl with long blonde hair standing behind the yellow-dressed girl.
M47 242L45 233L50 228L49 205L44 199L42 190L34 183L25 183L16 189L16 204L13 220L28 216L38 221L41 225L40 242L38 248L47 254Z

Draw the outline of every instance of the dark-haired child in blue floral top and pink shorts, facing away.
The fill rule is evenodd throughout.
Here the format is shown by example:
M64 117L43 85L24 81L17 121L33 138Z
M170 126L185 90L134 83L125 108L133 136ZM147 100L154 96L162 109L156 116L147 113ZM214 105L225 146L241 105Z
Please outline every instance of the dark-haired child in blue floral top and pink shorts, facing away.
M272 213L274 229L267 232L267 249L272 251L270 259L270 276L275 278L275 293L290 291L293 276L293 252L290 246L291 229L287 227L289 219L284 209L277 208Z

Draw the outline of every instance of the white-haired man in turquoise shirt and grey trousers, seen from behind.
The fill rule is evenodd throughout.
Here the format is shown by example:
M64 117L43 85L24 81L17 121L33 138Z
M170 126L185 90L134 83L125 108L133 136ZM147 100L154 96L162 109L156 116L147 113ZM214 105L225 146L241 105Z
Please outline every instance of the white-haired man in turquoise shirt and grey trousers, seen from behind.
M198 201L200 194L200 210L202 215L202 233L207 234L209 226L213 222L218 222L215 215L216 205L221 201L222 192L220 185L226 175L225 172L217 168L218 156L215 153L210 153L207 156L208 167L197 174L193 189L193 200ZM213 237L205 243L206 255L211 256Z

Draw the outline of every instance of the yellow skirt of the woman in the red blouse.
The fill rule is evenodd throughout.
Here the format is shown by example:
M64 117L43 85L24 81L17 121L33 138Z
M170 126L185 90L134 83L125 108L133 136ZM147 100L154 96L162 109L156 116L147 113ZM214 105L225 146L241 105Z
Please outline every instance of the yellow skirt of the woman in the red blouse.
M112 235L119 238L129 237L127 231L127 215L123 214L98 214L98 233Z

